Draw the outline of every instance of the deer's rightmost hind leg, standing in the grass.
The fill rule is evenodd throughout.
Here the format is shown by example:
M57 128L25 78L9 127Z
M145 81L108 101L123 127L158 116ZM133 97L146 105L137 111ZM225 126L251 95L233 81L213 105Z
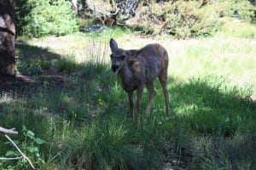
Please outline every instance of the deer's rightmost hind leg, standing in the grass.
M159 74L160 84L163 88L163 93L166 100L166 115L169 115L169 94L167 91L167 69L161 70Z

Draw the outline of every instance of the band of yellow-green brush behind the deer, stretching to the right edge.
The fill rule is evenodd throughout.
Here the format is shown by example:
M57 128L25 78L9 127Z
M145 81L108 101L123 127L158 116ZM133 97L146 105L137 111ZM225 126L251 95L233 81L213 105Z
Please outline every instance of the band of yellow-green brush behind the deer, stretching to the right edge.
M165 33L177 38L212 35L223 23L223 17L253 20L254 8L248 1L165 1L141 3L138 19L127 20L145 34Z

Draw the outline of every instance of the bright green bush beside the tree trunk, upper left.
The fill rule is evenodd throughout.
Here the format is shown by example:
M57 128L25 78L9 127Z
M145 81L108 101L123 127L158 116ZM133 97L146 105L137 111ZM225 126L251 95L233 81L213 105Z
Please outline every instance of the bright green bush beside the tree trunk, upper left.
M17 1L16 17L19 36L61 36L79 30L75 12L64 0Z

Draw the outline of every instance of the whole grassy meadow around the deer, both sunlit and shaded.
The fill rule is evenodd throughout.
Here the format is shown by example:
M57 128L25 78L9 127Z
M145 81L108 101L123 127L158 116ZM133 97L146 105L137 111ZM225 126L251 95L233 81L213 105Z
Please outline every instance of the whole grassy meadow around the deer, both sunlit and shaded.
M138 127L127 115L126 94L110 71L110 37L121 48L166 47L172 119L157 81L150 116ZM38 169L253 169L255 43L224 33L170 40L121 30L20 42L17 69L33 81L1 92L0 125L19 132L25 125L47 142L38 146L44 162L26 153ZM0 156L13 150L0 141ZM0 161L1 169L18 165Z

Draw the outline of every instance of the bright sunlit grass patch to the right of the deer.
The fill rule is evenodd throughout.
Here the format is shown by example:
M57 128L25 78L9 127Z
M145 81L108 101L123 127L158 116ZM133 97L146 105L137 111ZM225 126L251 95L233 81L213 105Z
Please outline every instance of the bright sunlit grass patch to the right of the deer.
M228 77L234 84L253 84L256 81L255 44L253 39L221 37L184 43L182 54L170 55L169 75L183 80L220 75ZM171 49L169 54L172 54L172 48L167 46L167 49Z

